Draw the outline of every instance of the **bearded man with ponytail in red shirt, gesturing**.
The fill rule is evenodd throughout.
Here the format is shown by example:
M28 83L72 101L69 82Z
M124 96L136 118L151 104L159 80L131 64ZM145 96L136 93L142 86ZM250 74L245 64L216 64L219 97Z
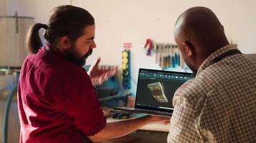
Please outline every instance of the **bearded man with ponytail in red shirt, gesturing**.
M168 123L152 116L106 123L93 85L116 69L98 69L99 59L88 73L82 68L96 48L94 33L93 16L76 6L58 6L48 24L32 26L18 85L20 142L101 142L152 122Z

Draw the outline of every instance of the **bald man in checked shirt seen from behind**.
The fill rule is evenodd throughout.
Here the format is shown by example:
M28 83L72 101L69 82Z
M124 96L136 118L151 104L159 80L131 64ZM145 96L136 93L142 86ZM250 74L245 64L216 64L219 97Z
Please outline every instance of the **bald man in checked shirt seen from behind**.
M168 142L256 142L256 54L229 44L205 7L184 11L174 36L196 77L175 92Z

